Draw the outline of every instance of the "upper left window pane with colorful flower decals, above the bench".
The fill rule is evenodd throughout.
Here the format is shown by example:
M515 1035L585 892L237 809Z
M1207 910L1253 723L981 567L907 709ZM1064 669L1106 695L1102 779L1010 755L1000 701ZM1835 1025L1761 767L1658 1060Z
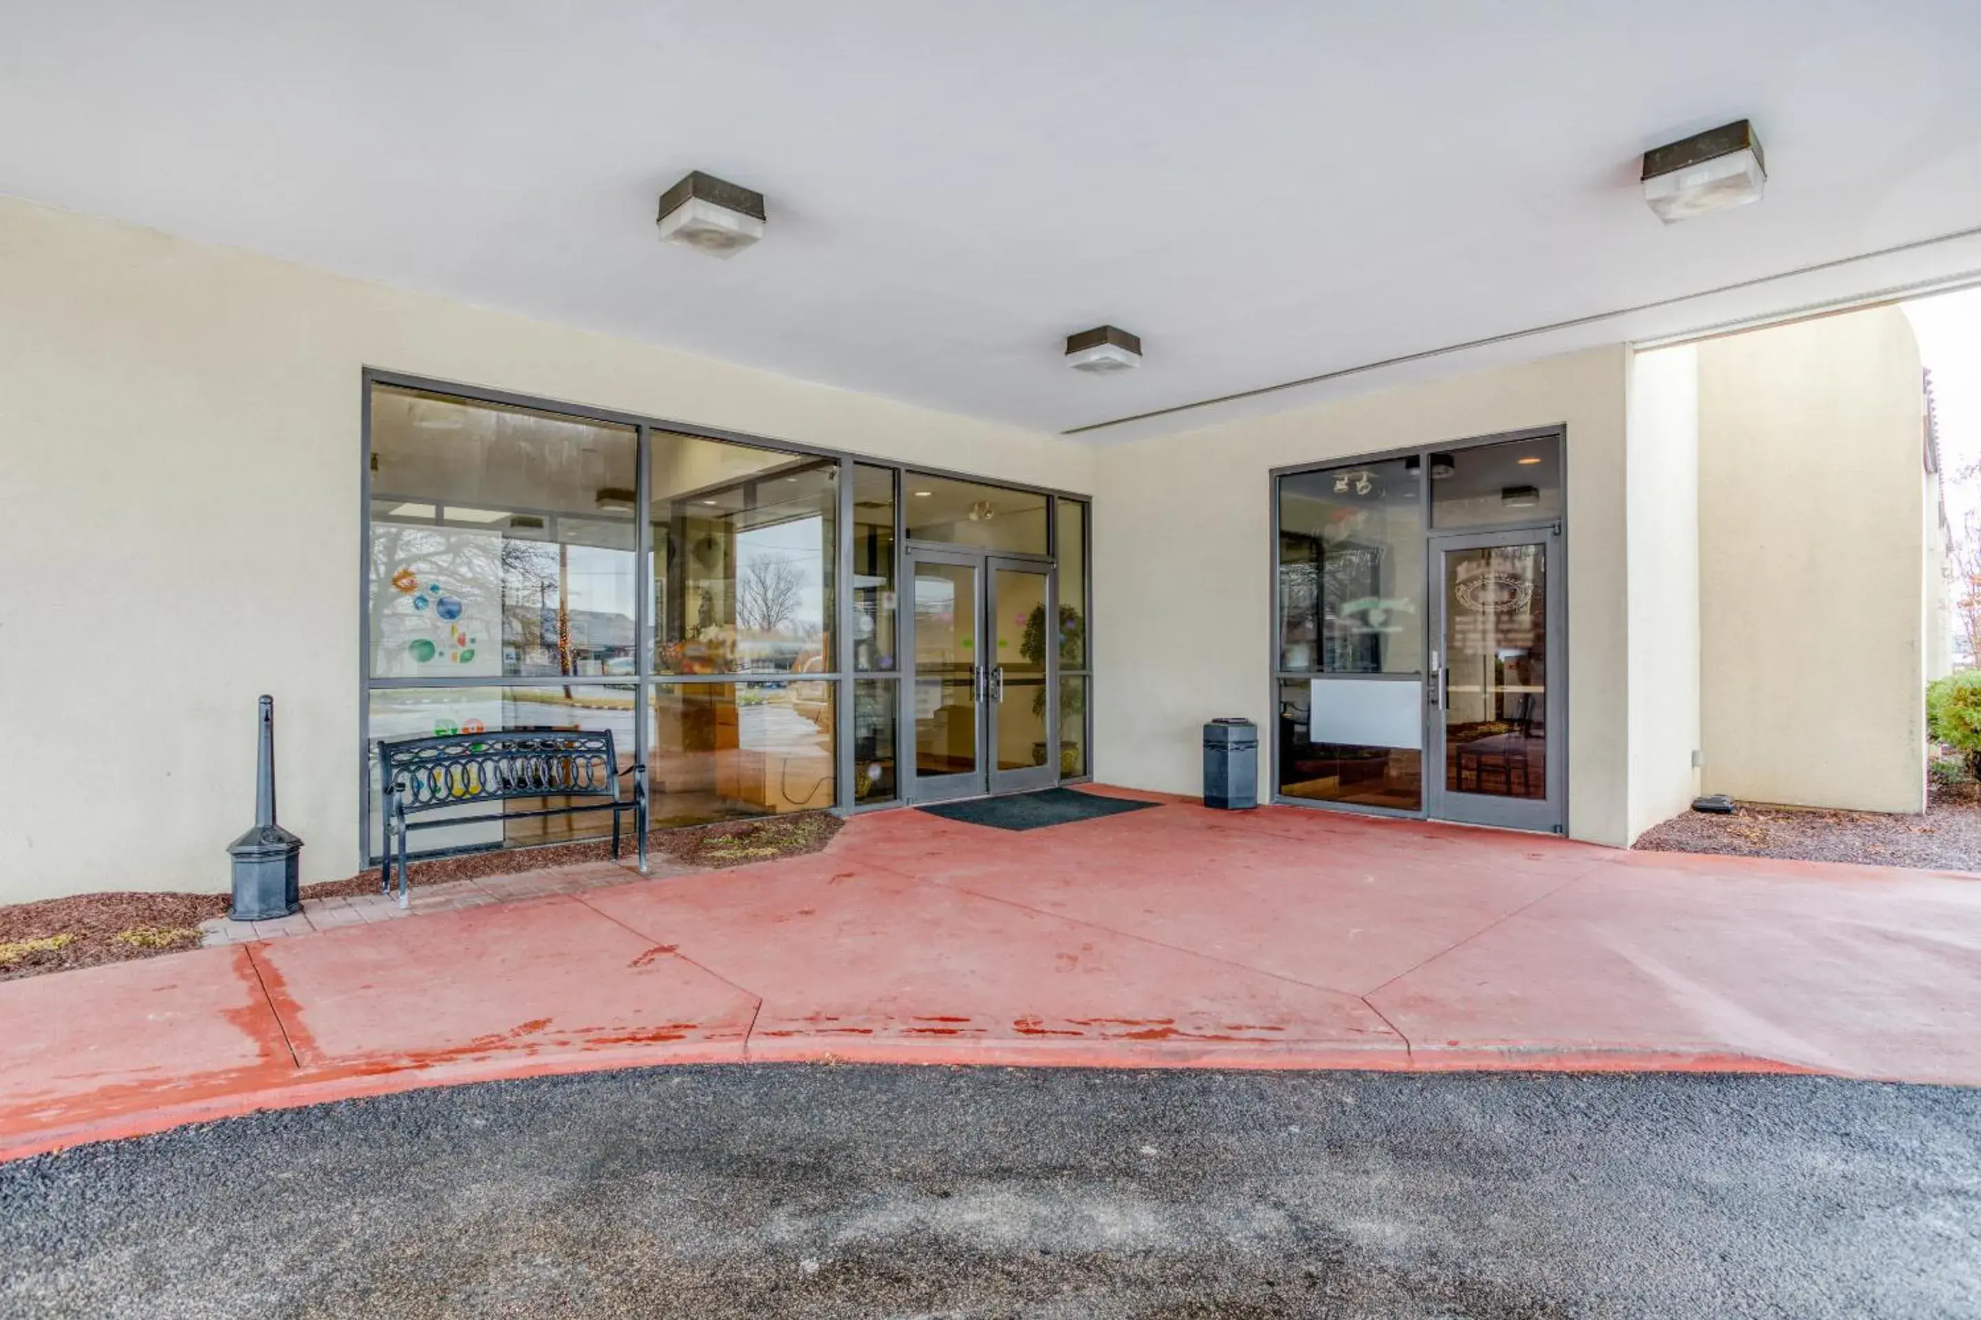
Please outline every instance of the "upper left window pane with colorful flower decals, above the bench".
M632 427L372 390L368 671L634 673Z

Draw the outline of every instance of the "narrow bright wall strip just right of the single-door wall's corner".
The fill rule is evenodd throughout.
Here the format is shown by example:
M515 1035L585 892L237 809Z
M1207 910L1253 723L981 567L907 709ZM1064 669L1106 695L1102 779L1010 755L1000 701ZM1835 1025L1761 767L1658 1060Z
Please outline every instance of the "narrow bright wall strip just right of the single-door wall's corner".
M1700 772L1698 348L1630 360L1626 461L1630 837L1692 805Z

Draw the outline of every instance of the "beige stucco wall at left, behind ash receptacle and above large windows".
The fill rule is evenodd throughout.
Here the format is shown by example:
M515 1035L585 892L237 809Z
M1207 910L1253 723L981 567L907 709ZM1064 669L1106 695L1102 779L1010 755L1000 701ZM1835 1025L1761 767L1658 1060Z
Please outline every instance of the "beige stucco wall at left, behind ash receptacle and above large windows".
M357 869L365 366L1094 487L1058 437L0 200L0 902L224 889L258 693L305 877Z

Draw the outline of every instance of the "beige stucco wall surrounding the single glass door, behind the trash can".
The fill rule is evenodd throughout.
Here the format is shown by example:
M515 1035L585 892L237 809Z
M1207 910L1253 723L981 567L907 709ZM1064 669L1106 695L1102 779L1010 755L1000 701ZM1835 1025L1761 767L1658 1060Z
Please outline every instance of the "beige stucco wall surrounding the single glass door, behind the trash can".
M1103 447L1097 778L1195 794L1206 718L1268 726L1274 467L1567 424L1569 833L1626 843L1626 366L1601 348Z

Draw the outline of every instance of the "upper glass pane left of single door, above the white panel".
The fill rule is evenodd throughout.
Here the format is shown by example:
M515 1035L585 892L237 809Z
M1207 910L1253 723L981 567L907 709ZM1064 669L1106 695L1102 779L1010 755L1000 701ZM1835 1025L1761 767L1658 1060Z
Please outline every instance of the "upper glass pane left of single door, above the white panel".
M1280 669L1420 673L1424 511L1416 459L1280 479Z

